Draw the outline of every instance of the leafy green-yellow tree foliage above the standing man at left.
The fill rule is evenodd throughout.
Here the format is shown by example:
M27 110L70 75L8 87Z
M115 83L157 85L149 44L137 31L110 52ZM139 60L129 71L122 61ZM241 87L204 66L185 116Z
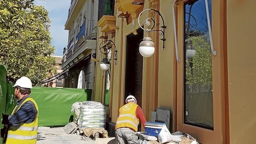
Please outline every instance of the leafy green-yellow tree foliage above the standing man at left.
M33 0L0 0L0 62L7 66L7 79L21 76L38 85L55 59L48 12Z

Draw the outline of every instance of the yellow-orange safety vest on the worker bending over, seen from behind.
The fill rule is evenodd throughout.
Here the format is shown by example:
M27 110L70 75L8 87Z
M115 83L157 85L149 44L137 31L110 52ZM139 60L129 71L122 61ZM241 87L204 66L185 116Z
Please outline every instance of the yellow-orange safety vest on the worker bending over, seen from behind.
M136 117L137 104L129 102L119 109L119 117L116 120L116 129L129 127L137 132L140 120Z

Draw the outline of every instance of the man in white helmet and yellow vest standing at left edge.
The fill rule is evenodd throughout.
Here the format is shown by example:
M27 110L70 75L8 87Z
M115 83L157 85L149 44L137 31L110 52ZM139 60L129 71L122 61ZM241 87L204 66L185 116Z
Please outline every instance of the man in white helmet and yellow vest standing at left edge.
M2 124L8 125L6 144L36 144L38 129L38 105L30 97L32 83L25 76L13 86L17 106L12 115L2 113Z

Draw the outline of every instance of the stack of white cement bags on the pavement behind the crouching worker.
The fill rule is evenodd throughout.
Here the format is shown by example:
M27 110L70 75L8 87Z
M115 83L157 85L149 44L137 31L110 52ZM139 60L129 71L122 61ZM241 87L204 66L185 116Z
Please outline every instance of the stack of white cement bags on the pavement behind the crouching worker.
M105 127L105 106L100 102L87 101L80 107L79 129Z

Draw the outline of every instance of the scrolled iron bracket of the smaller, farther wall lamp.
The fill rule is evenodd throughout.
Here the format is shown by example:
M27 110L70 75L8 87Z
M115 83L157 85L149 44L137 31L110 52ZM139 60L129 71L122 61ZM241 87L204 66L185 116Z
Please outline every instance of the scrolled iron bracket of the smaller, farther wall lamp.
M110 53L112 50L112 46L109 45L114 45L114 52ZM117 60L117 50L116 50L116 45L112 40L104 40L103 42L100 43L100 52L104 54L104 58L107 58L107 54L114 54L114 60L115 60L115 65L116 65L116 60Z

